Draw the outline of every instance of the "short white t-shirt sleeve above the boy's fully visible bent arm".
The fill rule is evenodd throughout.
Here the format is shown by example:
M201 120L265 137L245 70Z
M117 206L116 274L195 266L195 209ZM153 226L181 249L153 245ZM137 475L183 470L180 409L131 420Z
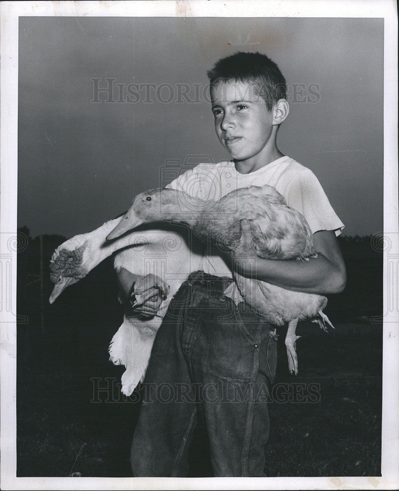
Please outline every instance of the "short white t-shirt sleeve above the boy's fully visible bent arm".
M307 220L314 234L320 230L334 230L342 233L345 225L334 212L317 177L304 169L285 195L288 206L299 211Z

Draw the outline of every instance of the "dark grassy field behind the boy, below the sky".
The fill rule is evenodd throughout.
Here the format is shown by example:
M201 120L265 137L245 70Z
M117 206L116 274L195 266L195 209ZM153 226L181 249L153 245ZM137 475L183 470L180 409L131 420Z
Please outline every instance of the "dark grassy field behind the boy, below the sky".
M18 326L17 476L128 477L140 402L120 394L124 369L108 361L122 320L112 262L50 306L47 264L57 246L50 239L43 243L43 303L34 276L39 242L19 255L18 312L28 323ZM280 332L275 386L288 396L269 405L269 476L380 475L382 327L368 318L382 311L382 254L366 241L343 244L343 252L348 286L325 310L336 329L299 325L296 378L288 374ZM113 384L113 396L94 393L96 383ZM313 403L300 397L309 384L316 388ZM200 425L189 460L191 476L212 475Z

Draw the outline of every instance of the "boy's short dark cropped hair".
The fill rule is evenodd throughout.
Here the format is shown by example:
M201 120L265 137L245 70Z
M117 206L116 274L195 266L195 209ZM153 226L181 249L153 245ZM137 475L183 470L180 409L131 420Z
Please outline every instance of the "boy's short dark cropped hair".
M219 82L252 83L269 111L279 99L286 99L287 84L278 66L261 53L237 52L218 60L207 72L210 86Z

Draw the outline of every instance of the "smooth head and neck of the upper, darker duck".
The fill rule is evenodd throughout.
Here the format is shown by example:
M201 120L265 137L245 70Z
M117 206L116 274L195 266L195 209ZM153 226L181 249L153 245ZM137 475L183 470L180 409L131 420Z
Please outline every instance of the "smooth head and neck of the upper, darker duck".
M120 237L142 223L170 221L194 223L204 201L174 189L152 189L138 194L120 223L107 235L107 240Z

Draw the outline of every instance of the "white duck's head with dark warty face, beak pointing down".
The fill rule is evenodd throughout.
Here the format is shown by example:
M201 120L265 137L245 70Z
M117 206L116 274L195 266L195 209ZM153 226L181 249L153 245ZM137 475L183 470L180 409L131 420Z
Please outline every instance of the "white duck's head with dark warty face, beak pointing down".
M50 260L50 280L55 283L50 303L70 285L86 276L90 268L90 251L84 235L76 235L58 246Z

